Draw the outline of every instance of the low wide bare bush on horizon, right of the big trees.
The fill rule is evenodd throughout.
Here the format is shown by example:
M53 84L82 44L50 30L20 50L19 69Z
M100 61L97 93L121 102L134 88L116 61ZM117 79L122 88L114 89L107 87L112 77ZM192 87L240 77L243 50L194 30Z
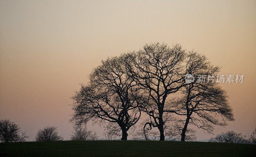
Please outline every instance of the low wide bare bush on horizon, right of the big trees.
M211 138L208 142L224 142L224 143L249 143L245 139L246 136L242 133L237 133L235 131L227 131L225 133L217 134L215 138Z

